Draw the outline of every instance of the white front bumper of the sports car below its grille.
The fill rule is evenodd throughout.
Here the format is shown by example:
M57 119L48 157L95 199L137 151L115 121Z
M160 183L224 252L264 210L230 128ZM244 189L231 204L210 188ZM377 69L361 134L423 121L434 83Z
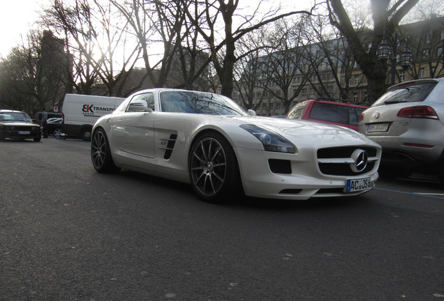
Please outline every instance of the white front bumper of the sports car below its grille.
M314 155L299 156L245 148L236 148L235 153L247 196L287 200L355 196L369 192L378 179L378 164L371 171L355 176L329 176L320 171ZM291 173L272 172L269 159L290 161ZM362 178L370 179L369 188L356 192L345 191L347 180Z

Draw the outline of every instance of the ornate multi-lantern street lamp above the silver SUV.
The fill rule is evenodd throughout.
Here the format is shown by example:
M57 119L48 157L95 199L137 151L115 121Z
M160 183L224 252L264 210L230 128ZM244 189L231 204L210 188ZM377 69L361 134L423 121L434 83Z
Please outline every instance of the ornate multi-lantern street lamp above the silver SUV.
M389 33L387 35L386 31ZM387 38L388 41L385 39ZM390 83L394 84L394 79L397 74L397 63L398 63L398 47L401 46L402 41L404 40L404 44L406 47L404 47L404 51L401 53L401 56L399 56L399 65L406 70L413 62L413 55L408 49L407 38L399 38L398 33L394 33L394 35L388 31L387 29L384 29L384 38L383 41L380 43L378 49L376 50L376 56L380 61L387 61L390 59L392 63L392 79L390 80ZM393 55L392 55L393 50Z

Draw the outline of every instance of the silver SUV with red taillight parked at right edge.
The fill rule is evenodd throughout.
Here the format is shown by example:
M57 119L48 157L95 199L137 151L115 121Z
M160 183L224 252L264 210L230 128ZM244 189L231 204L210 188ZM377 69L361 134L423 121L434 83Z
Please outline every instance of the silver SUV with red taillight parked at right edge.
M391 86L365 110L358 131L383 147L381 173L435 173L444 182L444 79Z

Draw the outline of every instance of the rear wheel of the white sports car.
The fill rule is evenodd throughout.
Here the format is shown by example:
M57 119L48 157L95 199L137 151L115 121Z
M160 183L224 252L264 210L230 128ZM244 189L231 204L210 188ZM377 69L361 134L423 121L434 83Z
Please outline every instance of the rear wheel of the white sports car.
M94 169L99 173L111 173L120 170L112 160L110 144L105 131L99 128L94 132L91 141L91 160Z

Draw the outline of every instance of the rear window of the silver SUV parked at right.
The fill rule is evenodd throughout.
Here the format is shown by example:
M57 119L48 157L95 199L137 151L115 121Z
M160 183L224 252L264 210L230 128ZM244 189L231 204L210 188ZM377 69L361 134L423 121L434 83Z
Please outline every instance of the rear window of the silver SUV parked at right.
M390 105L399 102L422 102L427 98L435 86L435 82L402 86L382 95L375 103L373 103L373 105L371 105L371 107Z

